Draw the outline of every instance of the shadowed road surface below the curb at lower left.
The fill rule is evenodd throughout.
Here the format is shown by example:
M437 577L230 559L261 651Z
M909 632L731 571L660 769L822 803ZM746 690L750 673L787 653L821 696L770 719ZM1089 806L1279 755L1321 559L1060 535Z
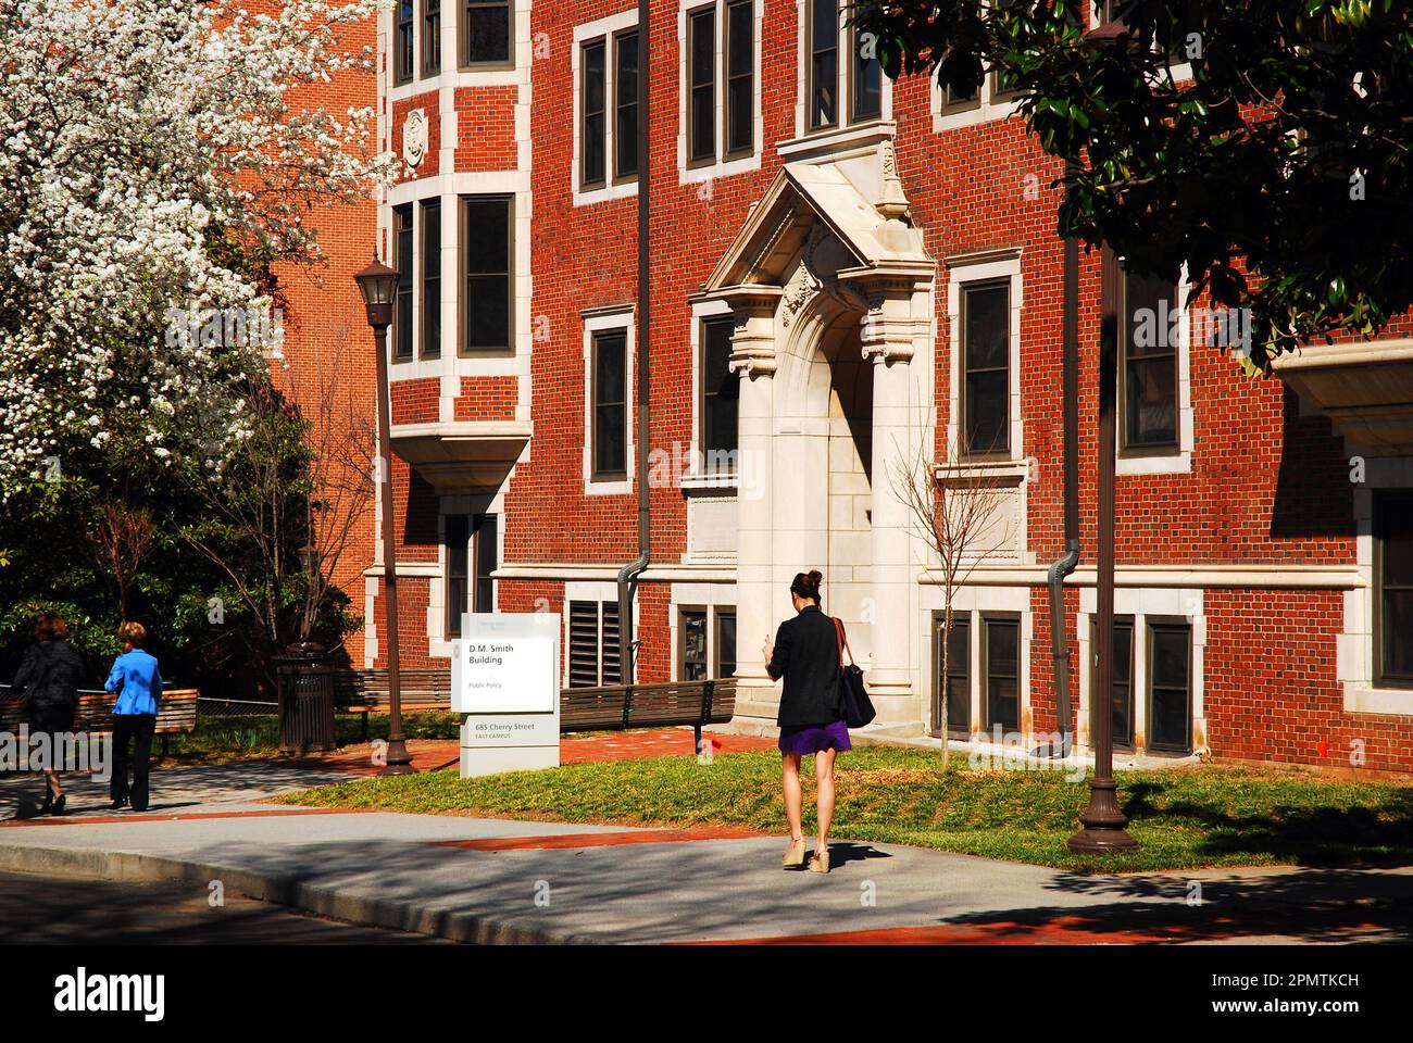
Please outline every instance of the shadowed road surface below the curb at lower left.
M168 880L99 880L0 872L0 944L406 945L424 934L338 923Z

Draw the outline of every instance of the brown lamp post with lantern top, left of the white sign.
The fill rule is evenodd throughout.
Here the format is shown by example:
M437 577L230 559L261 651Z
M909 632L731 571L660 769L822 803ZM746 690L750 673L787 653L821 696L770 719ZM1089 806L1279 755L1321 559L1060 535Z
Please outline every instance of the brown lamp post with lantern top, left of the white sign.
M393 537L393 442L387 396L387 328L393 324L397 273L377 257L353 277L363 294L367 324L377 345L377 482L383 503L383 588L386 591L384 643L387 647L387 765L379 774L410 774L413 758L403 739L403 693L397 663L397 548Z

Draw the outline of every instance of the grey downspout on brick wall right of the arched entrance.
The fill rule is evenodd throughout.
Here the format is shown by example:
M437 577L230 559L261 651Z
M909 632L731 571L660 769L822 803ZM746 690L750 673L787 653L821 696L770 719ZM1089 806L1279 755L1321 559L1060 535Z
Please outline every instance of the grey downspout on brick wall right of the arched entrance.
M1065 192L1078 164L1065 161ZM1080 242L1064 240L1064 557L1050 565L1050 649L1054 656L1056 717L1060 721L1060 749L1051 756L1070 756L1074 745L1070 712L1070 643L1064 619L1064 579L1080 564ZM1037 750L1041 752L1041 750Z

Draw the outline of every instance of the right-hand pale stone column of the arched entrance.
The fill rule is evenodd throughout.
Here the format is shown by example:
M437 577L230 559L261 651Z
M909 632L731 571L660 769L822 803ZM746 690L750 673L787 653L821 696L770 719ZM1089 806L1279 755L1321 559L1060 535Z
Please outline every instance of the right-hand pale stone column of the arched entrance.
M872 465L872 637L873 660L866 683L877 708L877 724L920 724L914 690L917 574L916 523L897 495L900 469L920 465L924 403L917 401L913 373L914 278L869 280L861 329L863 358L873 362ZM930 458L930 454L928 454Z

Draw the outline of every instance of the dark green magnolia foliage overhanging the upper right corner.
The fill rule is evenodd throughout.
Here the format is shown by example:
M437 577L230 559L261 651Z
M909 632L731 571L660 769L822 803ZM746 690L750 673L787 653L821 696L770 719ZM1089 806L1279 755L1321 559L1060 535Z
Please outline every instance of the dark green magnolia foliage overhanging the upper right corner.
M1084 3L1085 14L1089 4ZM1413 305L1413 7L1406 0L862 0L887 75L1020 92L1077 172L1058 233L1145 274L1186 266L1249 308L1248 372L1311 338L1368 336Z

